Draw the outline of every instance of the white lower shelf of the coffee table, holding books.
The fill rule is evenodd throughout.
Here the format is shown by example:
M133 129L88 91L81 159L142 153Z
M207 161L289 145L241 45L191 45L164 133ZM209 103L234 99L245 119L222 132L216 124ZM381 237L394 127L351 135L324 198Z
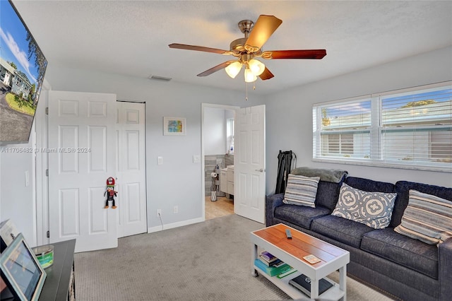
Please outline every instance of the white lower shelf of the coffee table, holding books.
M303 293L301 290L295 288L294 286L289 284L289 281L293 278L301 275L299 271L296 271L290 275L285 276L284 278L278 278L277 276L270 276L268 273L262 271L258 266L254 266L254 270L258 273L267 278L271 283L276 285L280 290L283 290L284 293L289 295L292 299L302 299L309 296ZM254 276L257 276L254 275ZM339 284L335 283L331 279L325 277L327 281L331 282L333 286L331 288L328 288L323 294L319 295L319 299L325 299L325 300L340 300L340 298L344 297L345 293L343 290L340 290Z

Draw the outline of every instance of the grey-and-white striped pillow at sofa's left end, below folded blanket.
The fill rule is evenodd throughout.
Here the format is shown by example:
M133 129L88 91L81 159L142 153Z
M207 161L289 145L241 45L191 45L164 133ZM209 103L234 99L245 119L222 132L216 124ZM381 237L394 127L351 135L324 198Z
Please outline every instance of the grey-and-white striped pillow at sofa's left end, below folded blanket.
M320 177L304 177L302 175L289 174L287 187L284 194L284 203L315 208L317 186Z

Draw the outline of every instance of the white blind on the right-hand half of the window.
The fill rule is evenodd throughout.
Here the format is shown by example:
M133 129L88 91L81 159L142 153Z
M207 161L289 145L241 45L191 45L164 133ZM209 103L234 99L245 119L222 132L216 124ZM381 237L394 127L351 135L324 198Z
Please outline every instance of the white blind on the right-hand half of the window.
M380 96L383 160L452 164L452 89Z

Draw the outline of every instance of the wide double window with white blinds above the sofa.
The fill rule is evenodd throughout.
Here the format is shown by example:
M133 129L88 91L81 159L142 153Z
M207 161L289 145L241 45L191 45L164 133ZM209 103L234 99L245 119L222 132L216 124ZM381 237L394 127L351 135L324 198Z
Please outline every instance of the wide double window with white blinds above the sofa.
M452 82L313 107L313 159L452 172Z

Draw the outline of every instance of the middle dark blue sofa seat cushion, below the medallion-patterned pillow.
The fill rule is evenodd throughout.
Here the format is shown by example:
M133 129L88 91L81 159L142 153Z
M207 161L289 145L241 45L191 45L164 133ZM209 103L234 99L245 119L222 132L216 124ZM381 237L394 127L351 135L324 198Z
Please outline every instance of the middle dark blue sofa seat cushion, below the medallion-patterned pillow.
M362 235L374 229L362 223L340 218L339 216L323 216L312 220L311 230L343 242L352 247L359 248Z

